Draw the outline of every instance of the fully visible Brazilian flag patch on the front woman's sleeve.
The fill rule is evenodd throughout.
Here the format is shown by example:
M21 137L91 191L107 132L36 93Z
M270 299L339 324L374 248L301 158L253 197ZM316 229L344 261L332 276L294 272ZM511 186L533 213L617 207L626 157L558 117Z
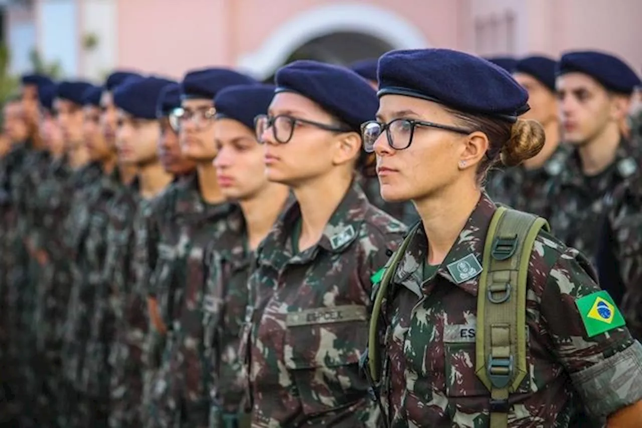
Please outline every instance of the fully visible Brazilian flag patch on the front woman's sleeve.
M625 325L624 317L607 291L596 291L575 300L589 338Z

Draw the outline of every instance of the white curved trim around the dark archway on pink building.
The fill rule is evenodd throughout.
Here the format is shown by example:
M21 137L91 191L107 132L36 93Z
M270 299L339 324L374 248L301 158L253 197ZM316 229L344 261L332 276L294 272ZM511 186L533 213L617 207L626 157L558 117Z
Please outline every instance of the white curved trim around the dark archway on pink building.
M287 21L257 51L239 56L237 66L256 78L265 79L298 47L337 31L371 35L394 49L429 47L419 29L390 10L362 3L329 4Z

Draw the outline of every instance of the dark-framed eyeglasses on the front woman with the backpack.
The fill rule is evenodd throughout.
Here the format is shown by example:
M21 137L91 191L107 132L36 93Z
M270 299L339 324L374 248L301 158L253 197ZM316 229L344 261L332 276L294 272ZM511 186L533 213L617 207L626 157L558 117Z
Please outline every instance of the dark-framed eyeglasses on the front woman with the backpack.
M395 150L404 150L410 147L412 136L415 133L415 126L427 126L441 130L469 134L472 131L458 126L442 125L433 122L415 121L414 119L394 119L388 123L367 121L361 124L361 137L363 138L363 150L367 153L374 151L374 143L381 133L386 132L388 145Z

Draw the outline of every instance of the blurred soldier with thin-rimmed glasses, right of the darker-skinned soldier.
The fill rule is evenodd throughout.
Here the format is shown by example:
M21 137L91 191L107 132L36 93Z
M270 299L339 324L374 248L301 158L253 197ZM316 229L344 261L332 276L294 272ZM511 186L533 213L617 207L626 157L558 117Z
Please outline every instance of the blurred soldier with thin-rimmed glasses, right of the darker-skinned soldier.
M168 398L159 411L160 420L148 421L152 426L207 426L203 253L214 235L227 230L227 217L236 209L221 194L212 165L216 157L213 98L224 87L248 83L256 81L229 69L191 71L181 82L182 111L176 116L179 138L184 155L196 163L196 175L163 195L146 227L148 248L155 248L149 257L152 334L167 338L159 369L167 377L151 392L154 400Z

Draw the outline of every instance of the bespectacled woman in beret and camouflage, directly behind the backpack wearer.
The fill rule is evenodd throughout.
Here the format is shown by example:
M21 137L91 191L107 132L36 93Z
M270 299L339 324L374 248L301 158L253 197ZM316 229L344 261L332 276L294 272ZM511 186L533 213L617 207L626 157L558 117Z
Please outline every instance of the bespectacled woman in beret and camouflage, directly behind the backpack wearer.
M249 280L252 426L374 426L358 369L370 277L404 232L354 183L376 94L349 69L311 61L275 80L257 137L268 180L289 185L296 202L259 246Z

